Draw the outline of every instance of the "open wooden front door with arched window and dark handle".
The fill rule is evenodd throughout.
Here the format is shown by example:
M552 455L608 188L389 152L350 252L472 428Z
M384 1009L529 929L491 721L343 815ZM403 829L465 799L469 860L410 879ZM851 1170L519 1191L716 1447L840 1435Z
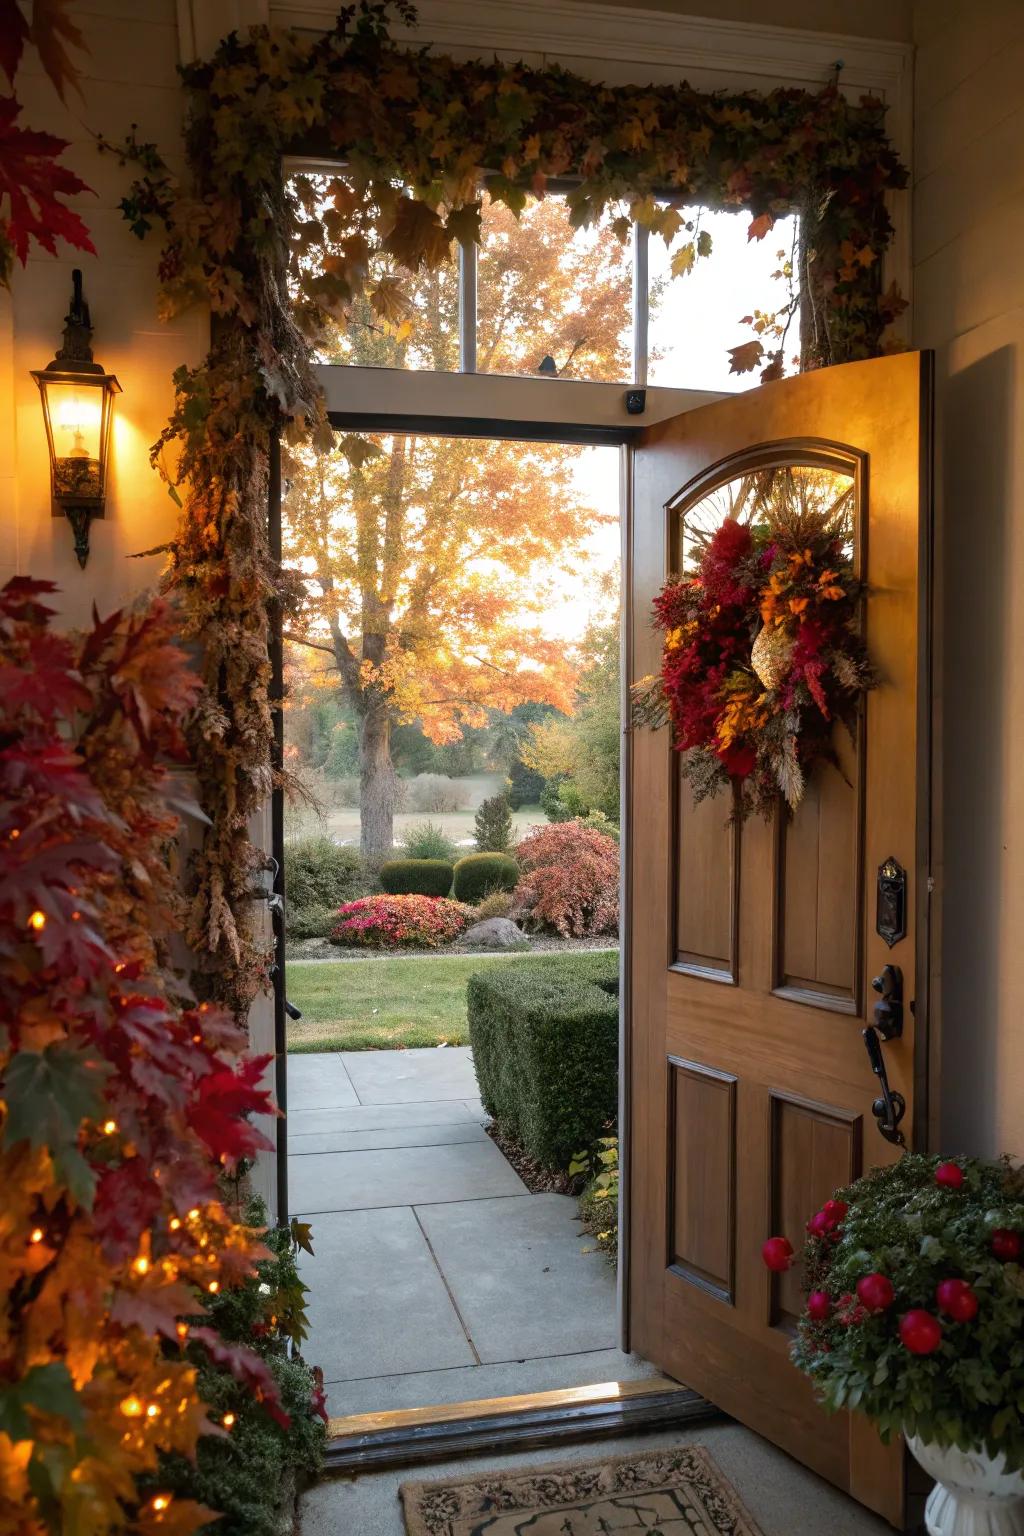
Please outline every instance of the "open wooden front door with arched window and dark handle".
M929 359L852 362L768 384L651 427L634 453L631 656L660 664L651 601L686 565L695 525L742 502L745 476L788 467L849 488L867 584L867 694L843 773L814 771L771 825L694 803L668 730L631 733L629 1281L634 1350L775 1441L894 1525L903 1455L857 1415L827 1418L788 1358L800 1269L769 1275L772 1233L900 1147L878 1130L863 1029L872 978L903 974L903 1037L883 1046L924 1134L929 826ZM877 928L878 868L906 871L906 937Z

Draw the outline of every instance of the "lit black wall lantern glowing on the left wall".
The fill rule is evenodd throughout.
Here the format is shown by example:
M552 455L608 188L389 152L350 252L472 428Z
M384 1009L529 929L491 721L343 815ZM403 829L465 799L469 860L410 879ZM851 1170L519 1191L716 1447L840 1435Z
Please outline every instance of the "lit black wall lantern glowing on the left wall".
M49 444L49 482L54 516L63 513L75 536L75 554L89 559L89 524L103 516L111 450L114 396L121 386L92 359L89 306L81 296L81 272L72 272L71 309L64 341L45 369L32 370L43 396Z

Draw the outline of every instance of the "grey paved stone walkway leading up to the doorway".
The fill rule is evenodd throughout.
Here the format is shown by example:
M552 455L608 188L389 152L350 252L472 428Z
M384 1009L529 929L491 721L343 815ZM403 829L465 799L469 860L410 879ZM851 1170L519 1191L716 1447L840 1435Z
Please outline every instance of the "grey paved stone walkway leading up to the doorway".
M468 1048L289 1057L292 1212L335 1416L625 1381L616 1279L484 1130Z

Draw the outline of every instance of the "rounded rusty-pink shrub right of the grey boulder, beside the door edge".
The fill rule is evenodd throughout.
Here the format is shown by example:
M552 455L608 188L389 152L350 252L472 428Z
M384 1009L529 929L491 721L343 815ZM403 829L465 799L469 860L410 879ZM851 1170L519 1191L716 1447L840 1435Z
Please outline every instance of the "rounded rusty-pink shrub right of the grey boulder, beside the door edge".
M516 915L563 938L619 931L619 845L582 822L539 826L516 845Z

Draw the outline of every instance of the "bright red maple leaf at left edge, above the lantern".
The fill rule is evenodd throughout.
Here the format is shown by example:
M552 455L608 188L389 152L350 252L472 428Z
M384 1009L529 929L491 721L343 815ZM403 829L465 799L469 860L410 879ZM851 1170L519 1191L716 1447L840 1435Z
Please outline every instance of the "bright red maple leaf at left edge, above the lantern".
M3 233L21 266L32 240L51 257L57 255L58 240L95 255L81 218L60 201L61 197L92 192L74 170L57 164L58 155L68 149L68 140L32 127L17 127L20 111L14 97L0 97L0 204L5 198L9 204Z

